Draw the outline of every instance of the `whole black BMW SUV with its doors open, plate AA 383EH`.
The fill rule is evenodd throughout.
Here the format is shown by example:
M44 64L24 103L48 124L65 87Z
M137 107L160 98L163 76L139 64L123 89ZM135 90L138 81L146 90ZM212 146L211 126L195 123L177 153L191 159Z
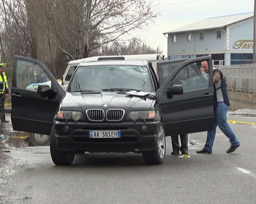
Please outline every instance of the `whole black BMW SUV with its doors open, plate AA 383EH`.
M15 56L13 129L50 135L56 165L81 152L142 153L145 163L161 164L165 136L212 129L212 65L203 75L202 61L212 62L159 62L158 77L146 61L81 63L65 92L44 64ZM37 83L42 74L49 80Z

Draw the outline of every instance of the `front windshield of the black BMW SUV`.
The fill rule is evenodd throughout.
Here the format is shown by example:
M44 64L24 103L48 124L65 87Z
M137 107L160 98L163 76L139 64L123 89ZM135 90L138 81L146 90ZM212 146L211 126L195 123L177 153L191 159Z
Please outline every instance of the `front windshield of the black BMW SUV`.
M98 65L78 67L69 85L69 92L129 91L151 92L147 67Z

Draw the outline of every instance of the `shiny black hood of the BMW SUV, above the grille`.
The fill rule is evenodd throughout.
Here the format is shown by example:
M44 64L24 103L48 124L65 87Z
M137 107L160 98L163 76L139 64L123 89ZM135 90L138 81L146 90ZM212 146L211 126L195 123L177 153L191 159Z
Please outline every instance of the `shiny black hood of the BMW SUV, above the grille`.
M93 108L149 110L153 101L153 98L127 96L126 92L67 92L61 106L63 110L84 111Z

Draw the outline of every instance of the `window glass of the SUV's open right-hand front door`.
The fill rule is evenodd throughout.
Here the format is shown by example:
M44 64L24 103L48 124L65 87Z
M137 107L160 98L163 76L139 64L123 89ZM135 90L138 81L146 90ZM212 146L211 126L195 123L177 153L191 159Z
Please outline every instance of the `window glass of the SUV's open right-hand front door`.
M183 92L208 88L208 80L204 77L197 63L183 67L172 79L172 85L182 85Z

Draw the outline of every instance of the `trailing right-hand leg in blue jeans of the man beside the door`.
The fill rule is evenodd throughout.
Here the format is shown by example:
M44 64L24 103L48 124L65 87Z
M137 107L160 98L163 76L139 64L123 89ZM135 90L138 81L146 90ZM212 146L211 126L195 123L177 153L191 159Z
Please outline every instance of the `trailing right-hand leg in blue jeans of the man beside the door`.
M240 142L226 121L228 106L225 103L221 103L220 106L222 107L222 114L218 118L217 125L219 126L220 130L229 138L231 146L238 147Z

